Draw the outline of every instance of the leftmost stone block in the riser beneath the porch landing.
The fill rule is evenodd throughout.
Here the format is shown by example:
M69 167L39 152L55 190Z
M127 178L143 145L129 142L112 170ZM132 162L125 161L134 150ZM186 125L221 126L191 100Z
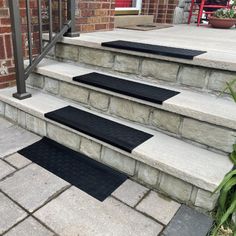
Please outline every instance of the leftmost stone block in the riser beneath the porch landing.
M57 44L56 57L77 61L79 58L79 47L66 44Z

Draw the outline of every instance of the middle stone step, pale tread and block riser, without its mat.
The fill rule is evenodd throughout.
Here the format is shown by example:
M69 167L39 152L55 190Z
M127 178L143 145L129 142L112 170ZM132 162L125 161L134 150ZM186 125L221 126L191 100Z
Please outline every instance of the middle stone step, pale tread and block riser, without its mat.
M72 80L91 72L98 71L46 59L27 83L91 110L168 133L206 149L232 151L236 135L236 106L232 100L159 85L181 93L158 105Z

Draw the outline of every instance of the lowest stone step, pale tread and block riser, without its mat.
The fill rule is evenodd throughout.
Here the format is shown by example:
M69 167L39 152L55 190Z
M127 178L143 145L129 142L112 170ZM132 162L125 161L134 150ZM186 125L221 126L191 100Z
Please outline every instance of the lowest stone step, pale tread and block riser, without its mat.
M215 206L217 194L212 195L212 192L232 168L226 156L134 123L98 114L37 90L29 90L32 98L16 100L12 97L14 91L15 88L3 89L0 94L1 115L7 119L125 172L135 180L188 205L204 210ZM68 105L143 130L153 137L132 153L127 153L44 117L45 113Z

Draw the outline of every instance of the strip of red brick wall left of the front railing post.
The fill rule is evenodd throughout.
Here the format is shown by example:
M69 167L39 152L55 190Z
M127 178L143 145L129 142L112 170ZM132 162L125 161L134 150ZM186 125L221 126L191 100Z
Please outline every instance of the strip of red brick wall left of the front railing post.
M0 89L15 85L11 24L7 0L0 0Z

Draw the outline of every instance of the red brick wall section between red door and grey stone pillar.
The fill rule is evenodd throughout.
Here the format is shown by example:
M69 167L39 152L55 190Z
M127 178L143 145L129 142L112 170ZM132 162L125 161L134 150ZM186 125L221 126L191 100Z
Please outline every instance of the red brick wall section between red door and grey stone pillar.
M143 0L142 14L154 15L154 22L172 23L178 0Z

